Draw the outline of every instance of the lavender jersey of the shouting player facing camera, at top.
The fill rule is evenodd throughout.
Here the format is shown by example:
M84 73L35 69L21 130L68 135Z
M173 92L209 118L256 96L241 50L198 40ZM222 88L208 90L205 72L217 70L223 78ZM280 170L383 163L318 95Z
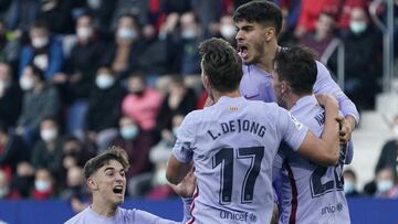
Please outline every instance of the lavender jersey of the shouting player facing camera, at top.
M359 114L354 103L342 92L325 65L316 61L317 76L314 85L314 93L334 95L344 116L352 115L359 121ZM272 75L255 65L243 65L243 77L240 83L240 92L247 99L263 102L275 102L275 94L272 87Z

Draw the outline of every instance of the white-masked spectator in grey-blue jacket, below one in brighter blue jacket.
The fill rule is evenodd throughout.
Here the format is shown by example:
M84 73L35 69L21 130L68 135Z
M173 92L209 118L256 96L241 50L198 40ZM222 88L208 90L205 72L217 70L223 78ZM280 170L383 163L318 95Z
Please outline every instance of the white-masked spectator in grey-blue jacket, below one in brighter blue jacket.
M22 113L17 121L17 134L28 143L34 145L44 117L56 117L61 110L57 90L45 84L43 73L34 65L28 65L20 77L23 93Z

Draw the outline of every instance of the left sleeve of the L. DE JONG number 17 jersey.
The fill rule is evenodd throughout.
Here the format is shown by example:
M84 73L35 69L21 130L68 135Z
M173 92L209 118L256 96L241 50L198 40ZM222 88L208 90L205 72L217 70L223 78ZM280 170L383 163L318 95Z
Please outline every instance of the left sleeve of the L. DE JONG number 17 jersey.
M193 156L193 143L195 143L195 116L193 113L188 114L180 128L177 131L177 140L172 147L172 154L175 158L184 163L192 161Z

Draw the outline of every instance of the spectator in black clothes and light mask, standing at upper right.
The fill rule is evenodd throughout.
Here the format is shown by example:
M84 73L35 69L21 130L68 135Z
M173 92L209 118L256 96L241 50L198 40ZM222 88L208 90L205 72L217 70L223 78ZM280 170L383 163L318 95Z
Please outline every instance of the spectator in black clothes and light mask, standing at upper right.
M374 29L367 10L354 8L350 11L349 29L343 35L345 60L344 93L359 109L373 109L375 96L380 89L381 36ZM336 74L337 53L328 65Z

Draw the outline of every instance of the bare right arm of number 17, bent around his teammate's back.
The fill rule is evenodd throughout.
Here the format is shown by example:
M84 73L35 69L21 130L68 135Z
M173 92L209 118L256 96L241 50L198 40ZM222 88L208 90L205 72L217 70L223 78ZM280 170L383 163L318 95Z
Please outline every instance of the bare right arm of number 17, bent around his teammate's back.
M326 97L326 96L325 96ZM318 139L308 131L298 153L324 166L334 166L339 157L339 116L338 105L334 97L325 98L325 128L322 138Z

